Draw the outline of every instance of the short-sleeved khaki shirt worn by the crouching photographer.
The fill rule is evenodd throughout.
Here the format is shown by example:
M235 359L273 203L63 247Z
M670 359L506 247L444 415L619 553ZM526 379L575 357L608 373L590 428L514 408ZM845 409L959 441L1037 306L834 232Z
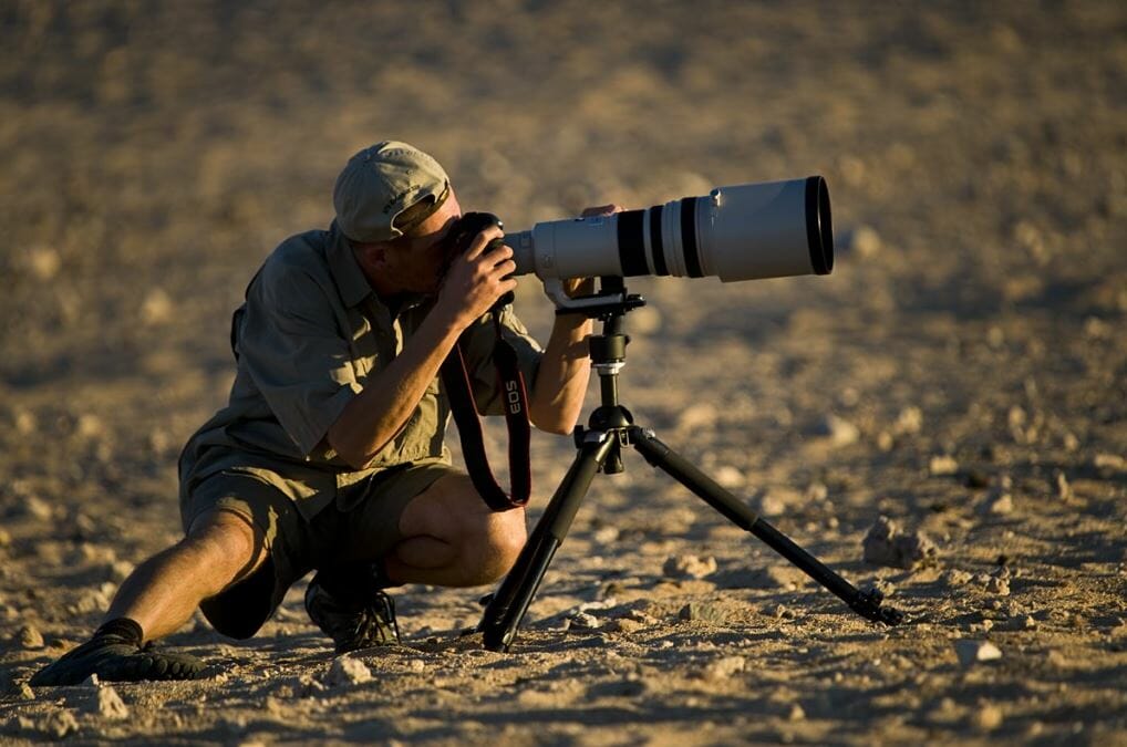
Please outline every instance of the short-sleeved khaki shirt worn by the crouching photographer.
M284 241L250 282L247 301L234 314L238 371L230 401L184 447L180 500L219 471L247 472L279 488L312 517L338 491L343 497L344 488L379 470L419 460L449 463L450 402L437 376L366 469L353 470L325 438L369 376L402 350L429 308L426 299L410 297L392 313L367 284L336 223ZM511 308L502 312L502 322L531 390L541 348ZM490 314L462 343L478 410L502 415Z

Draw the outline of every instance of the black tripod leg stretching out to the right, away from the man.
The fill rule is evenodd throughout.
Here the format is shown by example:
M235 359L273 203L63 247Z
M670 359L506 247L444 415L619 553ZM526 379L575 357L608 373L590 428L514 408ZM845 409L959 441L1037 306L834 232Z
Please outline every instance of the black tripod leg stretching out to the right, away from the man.
M696 466L663 444L653 432L638 426L630 429L630 441L646 461L662 469L712 508L720 512L736 526L751 532L772 550L800 568L807 576L837 595L851 610L873 622L895 625L904 621L904 614L891 607L881 607L879 592L861 592L844 578L827 568L822 561L795 544L790 537L774 528L742 500L725 490Z

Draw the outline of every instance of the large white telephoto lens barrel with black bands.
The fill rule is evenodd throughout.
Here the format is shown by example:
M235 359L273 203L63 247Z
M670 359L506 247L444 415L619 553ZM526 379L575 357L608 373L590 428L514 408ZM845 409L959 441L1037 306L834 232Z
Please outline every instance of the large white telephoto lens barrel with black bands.
M724 282L826 275L834 240L825 179L718 187L614 215L547 221L509 233L518 275L639 275Z

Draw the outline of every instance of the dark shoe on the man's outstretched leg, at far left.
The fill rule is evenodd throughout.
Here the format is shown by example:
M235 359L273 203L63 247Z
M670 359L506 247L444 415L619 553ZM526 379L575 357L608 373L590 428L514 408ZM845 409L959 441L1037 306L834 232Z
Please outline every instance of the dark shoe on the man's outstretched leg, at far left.
M151 646L142 647L140 637L99 630L86 643L36 672L28 684L77 685L90 675L106 682L193 679L203 668L204 662L194 656L154 651Z

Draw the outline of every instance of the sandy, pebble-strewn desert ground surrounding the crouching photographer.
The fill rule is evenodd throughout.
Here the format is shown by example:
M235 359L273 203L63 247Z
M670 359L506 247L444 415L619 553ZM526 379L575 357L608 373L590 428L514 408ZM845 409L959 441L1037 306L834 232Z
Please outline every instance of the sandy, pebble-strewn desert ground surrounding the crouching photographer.
M1127 742L1120 3L325 5L0 9L0 741ZM622 395L909 624L630 454L509 653L460 634L487 588L407 587L334 669L299 585L169 639L198 682L30 691L178 537L231 310L384 137L512 228L824 175L833 275L632 283ZM573 451L533 450L534 518ZM934 557L866 563L881 515Z

